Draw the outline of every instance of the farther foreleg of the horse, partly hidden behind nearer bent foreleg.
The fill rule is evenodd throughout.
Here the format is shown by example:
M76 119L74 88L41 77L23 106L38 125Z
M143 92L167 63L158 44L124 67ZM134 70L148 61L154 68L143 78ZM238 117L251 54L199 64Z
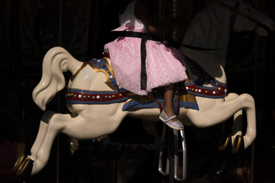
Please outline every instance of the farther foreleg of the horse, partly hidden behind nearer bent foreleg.
M225 101L232 100L238 97L238 94L229 93L225 96ZM231 134L223 134L220 142L219 150L223 151L233 146L236 136L242 135L242 115L243 111L239 110L233 115L233 125L231 128ZM239 141L237 141L239 142Z

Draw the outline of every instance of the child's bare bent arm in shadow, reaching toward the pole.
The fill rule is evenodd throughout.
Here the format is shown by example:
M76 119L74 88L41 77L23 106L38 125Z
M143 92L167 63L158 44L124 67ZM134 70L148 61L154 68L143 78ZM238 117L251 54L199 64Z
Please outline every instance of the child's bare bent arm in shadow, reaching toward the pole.
M180 24L179 17L172 18L170 21L165 23L153 23L148 13L148 7L146 3L141 0L136 2L135 8L137 8L137 11L149 33L159 33L172 27L176 27Z

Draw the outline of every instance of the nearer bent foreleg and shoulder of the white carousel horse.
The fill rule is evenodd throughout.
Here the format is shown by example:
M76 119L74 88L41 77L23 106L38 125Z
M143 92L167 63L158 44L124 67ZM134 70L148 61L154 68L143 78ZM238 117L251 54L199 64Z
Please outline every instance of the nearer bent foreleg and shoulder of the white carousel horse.
M236 135L232 152L236 153L252 144L256 138L256 114L254 99L251 95L241 94L232 100L213 102L212 106L209 106L209 100L211 99L203 98L199 100L198 103L203 103L200 110L190 110L187 113L188 118L195 126L199 128L214 126L224 122L238 111L245 110L247 115L246 134L244 136Z

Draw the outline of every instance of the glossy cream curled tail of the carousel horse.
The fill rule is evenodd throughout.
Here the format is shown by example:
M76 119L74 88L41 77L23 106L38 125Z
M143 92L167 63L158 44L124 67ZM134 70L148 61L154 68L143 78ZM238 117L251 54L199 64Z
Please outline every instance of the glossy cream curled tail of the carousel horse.
M46 53L42 64L42 78L32 92L32 98L41 110L45 111L48 102L65 87L63 72L70 70L68 67L72 62L79 61L62 47L54 47Z

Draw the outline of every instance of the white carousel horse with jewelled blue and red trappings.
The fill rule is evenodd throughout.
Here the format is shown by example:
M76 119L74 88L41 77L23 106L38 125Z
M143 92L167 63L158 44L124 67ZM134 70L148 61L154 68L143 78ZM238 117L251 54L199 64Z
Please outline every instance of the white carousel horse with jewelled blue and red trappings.
M181 47L186 55L189 79L176 84L173 98L178 119L185 125L206 128L220 124L245 110L247 130L242 136L238 129L231 138L233 151L247 148L256 137L254 99L249 94L227 94L224 72L229 31L256 31L267 36L274 30L274 21L237 1L216 1L199 12L187 29L182 43L200 48ZM112 54L112 53L110 53ZM46 111L40 121L31 155L22 154L15 163L17 175L34 175L47 164L54 138L58 133L79 140L99 138L115 132L125 116L158 121L163 108L160 89L150 96L138 96L119 87L107 57L80 62L61 47L50 49L43 59L43 73L32 97L40 109L65 87L62 72L72 77L66 93L70 114ZM150 103L150 100L155 102ZM149 101L149 102L148 102ZM148 104L150 107L146 107ZM237 127L238 124L235 124ZM235 139L233 139L235 138ZM227 140L228 141L228 140Z

